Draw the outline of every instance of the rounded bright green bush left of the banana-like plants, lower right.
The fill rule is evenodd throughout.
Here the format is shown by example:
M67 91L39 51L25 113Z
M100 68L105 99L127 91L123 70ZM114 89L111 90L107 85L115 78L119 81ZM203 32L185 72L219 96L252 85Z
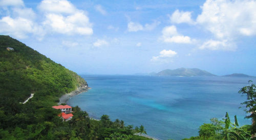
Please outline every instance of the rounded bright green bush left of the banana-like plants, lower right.
M216 128L212 124L203 124L199 128L199 136L203 136L204 139L215 135Z

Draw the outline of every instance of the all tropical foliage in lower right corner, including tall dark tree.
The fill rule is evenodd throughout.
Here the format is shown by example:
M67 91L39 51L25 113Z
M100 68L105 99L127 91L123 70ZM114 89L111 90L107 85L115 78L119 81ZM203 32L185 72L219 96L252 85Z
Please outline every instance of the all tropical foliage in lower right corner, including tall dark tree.
M239 93L245 95L247 100L242 105L246 105L246 113L250 113L246 116L247 119L252 119L252 125L244 125L239 127L237 116L234 116L234 122L230 122L228 113L225 115L225 119L218 120L217 118L210 119L210 124L203 124L199 127L199 136L193 136L184 139L255 139L251 138L251 135L256 133L256 86L249 81L249 85L243 87Z

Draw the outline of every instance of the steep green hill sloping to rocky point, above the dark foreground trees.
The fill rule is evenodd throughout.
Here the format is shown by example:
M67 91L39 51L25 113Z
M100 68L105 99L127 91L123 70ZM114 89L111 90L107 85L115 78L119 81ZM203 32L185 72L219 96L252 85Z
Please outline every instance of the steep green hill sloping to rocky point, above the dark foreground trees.
M31 93L36 100L58 97L87 85L75 72L9 36L0 36L0 54L0 100L11 96L23 102Z

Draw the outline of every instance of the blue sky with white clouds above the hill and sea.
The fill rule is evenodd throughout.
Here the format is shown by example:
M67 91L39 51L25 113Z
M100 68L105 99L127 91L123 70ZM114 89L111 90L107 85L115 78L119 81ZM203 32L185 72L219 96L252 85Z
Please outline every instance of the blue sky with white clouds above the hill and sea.
M0 0L0 34L78 74L256 76L256 1Z

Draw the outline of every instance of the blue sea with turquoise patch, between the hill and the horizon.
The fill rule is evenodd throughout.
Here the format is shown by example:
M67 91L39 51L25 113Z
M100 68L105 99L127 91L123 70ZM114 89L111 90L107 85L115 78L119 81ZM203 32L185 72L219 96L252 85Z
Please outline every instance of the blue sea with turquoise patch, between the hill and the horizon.
M198 128L211 118L222 119L228 111L231 121L250 124L238 94L248 85L247 77L157 77L82 75L92 89L68 100L90 117L109 115L126 125L143 125L148 135L160 139L182 139L198 135Z

